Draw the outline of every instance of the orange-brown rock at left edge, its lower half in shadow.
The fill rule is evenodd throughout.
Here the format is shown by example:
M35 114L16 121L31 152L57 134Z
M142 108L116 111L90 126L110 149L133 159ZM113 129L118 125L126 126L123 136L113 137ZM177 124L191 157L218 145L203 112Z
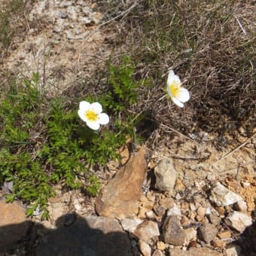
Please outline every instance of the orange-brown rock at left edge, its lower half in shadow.
M27 221L25 209L18 201L0 200L0 216L0 251L4 251L25 238L31 222Z

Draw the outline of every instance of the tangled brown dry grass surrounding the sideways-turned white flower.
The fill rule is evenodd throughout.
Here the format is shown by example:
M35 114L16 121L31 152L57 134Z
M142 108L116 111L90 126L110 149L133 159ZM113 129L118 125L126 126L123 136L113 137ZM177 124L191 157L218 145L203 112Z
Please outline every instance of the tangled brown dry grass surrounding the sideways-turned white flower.
M133 111L152 110L157 123L186 134L204 130L223 136L242 126L251 136L256 124L252 2L108 1L108 10L110 3L111 10L119 10L106 28L119 33L112 58L117 62L123 53L132 56L138 78L154 84ZM169 69L190 90L184 109L163 97ZM158 133L169 132L162 128Z

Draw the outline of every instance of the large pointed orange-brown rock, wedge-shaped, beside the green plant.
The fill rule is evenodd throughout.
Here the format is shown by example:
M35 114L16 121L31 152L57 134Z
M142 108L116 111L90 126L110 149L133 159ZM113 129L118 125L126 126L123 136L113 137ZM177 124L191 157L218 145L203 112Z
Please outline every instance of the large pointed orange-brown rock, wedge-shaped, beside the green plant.
M141 148L104 187L96 201L96 212L111 218L133 217L139 207L145 167L145 149Z

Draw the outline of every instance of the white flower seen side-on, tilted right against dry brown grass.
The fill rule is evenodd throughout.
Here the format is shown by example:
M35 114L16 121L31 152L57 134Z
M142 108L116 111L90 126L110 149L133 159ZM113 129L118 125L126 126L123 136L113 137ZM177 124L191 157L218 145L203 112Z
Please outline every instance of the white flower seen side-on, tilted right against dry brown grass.
M190 99L188 90L181 87L181 81L178 78L178 75L175 75L172 70L169 71L167 79L167 92L171 97L172 102L181 108L184 107L183 103Z

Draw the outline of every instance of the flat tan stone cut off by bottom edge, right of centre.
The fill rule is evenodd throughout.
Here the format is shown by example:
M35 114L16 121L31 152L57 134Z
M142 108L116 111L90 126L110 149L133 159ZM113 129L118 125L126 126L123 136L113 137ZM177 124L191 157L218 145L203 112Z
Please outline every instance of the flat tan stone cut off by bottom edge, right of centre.
M218 251L213 251L206 247L196 248L191 247L188 251L183 251L177 248L169 249L169 256L222 256Z

